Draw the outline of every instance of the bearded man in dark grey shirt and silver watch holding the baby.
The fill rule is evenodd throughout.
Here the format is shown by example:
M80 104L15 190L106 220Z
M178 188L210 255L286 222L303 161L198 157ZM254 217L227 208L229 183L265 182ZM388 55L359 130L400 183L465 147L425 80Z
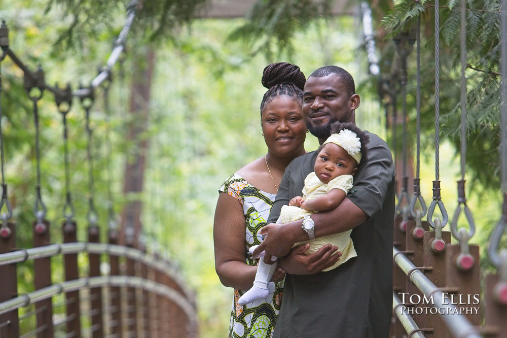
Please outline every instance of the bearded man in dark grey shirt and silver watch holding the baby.
M310 132L322 144L335 121L354 122L360 98L352 76L336 66L316 70L304 88L303 114ZM394 164L383 140L368 133L368 158L354 175L354 186L334 210L310 219L270 224L282 205L301 195L304 178L313 171L317 153L294 159L286 168L266 225L264 242L253 253L283 257L294 243L353 229L357 257L329 272L307 274L304 256L279 260L287 271L274 337L387 337L392 311L392 224ZM303 222L305 226L302 227ZM301 251L299 248L294 250ZM327 251L326 255L330 255ZM310 257L310 256L307 256ZM331 256L333 257L333 256ZM313 270L315 271L315 270Z

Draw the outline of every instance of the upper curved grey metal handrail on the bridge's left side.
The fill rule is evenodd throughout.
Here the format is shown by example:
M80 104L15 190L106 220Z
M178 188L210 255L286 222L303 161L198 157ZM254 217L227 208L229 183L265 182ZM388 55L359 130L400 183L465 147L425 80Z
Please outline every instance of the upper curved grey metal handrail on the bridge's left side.
M189 299L194 299L193 292L187 287L183 278L178 275L178 271L171 264L155 257L152 254L122 245L73 242L63 244L56 243L30 249L21 248L17 251L0 254L0 266L24 262L29 259L52 257L58 254L76 254L80 252L121 256L142 262L169 276L177 284L177 286L182 289L185 296Z

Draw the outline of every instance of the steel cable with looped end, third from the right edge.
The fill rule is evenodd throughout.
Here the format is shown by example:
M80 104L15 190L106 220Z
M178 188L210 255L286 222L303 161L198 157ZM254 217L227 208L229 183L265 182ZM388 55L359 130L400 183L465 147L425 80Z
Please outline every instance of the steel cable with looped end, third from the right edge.
M440 8L439 0L435 0L435 180L433 181L433 200L429 205L426 220L435 228L432 220L433 212L438 205L442 214L444 227L448 222L447 210L440 196Z

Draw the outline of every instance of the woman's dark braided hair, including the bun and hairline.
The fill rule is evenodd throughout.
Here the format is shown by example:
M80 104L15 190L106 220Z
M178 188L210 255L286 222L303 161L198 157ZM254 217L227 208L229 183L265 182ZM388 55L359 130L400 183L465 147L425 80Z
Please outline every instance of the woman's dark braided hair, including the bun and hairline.
M262 85L268 88L261 102L261 112L266 103L276 96L296 97L303 104L303 87L306 78L295 64L276 62L266 66L262 74Z

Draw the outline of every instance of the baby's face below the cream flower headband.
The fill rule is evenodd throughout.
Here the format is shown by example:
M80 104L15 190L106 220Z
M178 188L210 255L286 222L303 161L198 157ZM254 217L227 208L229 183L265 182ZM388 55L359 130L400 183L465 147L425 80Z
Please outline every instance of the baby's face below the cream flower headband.
M327 184L338 176L354 175L357 162L342 147L328 143L318 153L314 171L320 182Z

